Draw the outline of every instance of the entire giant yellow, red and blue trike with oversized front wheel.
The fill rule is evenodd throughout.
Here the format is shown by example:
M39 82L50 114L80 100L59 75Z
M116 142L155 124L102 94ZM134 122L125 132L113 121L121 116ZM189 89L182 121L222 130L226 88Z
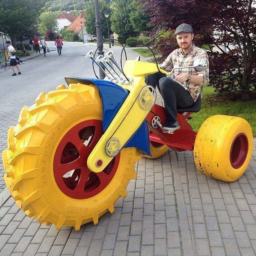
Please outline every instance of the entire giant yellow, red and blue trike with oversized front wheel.
M166 133L164 108L144 82L163 70L139 59L126 61L122 70L111 51L97 59L90 51L87 57L105 79L66 77L67 86L42 92L9 128L4 179L26 215L57 229L97 224L127 195L136 161L160 157L169 148L194 150L197 168L215 179L231 182L245 172L253 149L246 120L215 115L193 131L187 120L200 110L199 97L177 109L180 129ZM192 68L204 69L202 60Z

